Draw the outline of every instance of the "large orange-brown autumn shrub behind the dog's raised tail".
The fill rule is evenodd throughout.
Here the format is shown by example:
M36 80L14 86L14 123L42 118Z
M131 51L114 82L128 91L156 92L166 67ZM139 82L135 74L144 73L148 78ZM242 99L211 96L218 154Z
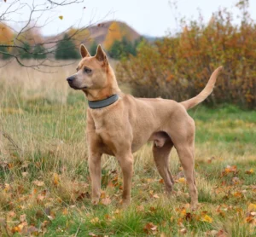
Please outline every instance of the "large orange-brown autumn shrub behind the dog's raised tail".
M212 14L207 25L182 22L183 32L154 43L143 41L137 56L123 59L119 80L133 86L137 96L162 96L176 101L197 95L215 68L224 66L208 104L256 106L256 25L248 14L248 1L240 1L238 25L227 9Z

